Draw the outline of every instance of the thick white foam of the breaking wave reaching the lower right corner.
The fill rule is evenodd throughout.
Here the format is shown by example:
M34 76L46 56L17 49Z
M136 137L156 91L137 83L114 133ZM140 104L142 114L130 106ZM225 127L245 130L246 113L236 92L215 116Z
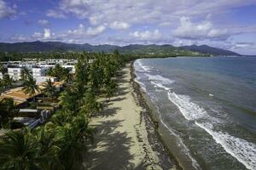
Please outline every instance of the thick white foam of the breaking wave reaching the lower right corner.
M168 93L169 99L181 111L183 116L189 121L195 121L198 127L203 128L212 136L216 143L221 144L224 150L231 156L240 161L247 169L256 169L256 145L249 143L244 139L231 136L228 133L216 132L213 130L212 124L218 122L214 117L207 115L207 111L196 105L188 96L178 95L174 92ZM207 119L210 122L197 122L201 119Z

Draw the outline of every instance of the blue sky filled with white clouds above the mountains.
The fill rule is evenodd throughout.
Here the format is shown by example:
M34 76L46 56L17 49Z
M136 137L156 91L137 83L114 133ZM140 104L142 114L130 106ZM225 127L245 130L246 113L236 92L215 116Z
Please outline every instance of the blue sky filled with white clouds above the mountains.
M0 42L32 41L256 54L256 0L0 0Z

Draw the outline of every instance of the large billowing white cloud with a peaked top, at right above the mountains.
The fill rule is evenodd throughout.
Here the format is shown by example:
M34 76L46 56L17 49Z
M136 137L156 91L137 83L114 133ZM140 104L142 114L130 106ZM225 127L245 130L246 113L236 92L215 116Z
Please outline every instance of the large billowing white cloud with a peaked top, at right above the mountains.
M180 26L173 31L175 37L184 39L216 39L224 40L229 37L227 30L216 29L212 26L212 23L208 20L195 24L192 23L188 17L182 17L180 19Z

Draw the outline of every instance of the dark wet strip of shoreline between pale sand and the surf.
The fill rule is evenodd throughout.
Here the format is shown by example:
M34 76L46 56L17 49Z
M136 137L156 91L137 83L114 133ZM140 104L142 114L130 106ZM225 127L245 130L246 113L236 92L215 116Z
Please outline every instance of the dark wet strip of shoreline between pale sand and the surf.
M134 60L135 61L135 60ZM131 64L131 85L134 92L134 98L137 100L137 105L143 107L143 118L145 122L148 123L148 127L154 127L154 139L158 141L162 147L161 156L168 155L172 162L176 165L176 169L197 169L194 165L194 162L191 161L189 156L184 155L181 151L183 146L178 146L177 137L170 133L168 127L161 122L159 114L156 113L156 108L149 99L148 94L143 91L143 88L140 87L139 83L135 81L136 75L133 68L133 62ZM150 133L150 130L148 130ZM154 145L154 144L153 144ZM164 153L165 152L165 153ZM200 169L200 167L198 167Z

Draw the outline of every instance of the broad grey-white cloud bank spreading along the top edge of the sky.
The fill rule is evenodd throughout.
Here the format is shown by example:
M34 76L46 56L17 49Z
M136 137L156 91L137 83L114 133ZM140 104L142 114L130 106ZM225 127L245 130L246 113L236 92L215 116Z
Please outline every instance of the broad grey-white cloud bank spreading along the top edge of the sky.
M113 22L134 24L177 24L182 16L218 17L226 14L232 8L255 4L255 0L61 0L55 8L55 13L73 14L79 19L87 19L92 25ZM171 26L171 24L170 24Z

